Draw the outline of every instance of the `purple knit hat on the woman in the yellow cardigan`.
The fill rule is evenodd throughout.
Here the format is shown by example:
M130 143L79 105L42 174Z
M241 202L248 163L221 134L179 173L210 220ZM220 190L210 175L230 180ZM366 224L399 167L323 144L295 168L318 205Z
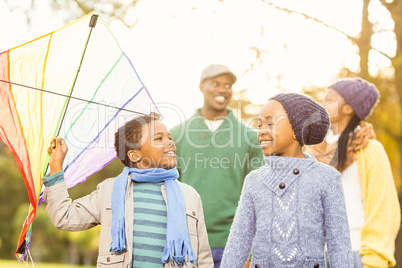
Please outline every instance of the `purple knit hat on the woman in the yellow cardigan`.
M360 120L366 119L378 103L380 93L376 86L361 78L345 78L329 86L352 107Z

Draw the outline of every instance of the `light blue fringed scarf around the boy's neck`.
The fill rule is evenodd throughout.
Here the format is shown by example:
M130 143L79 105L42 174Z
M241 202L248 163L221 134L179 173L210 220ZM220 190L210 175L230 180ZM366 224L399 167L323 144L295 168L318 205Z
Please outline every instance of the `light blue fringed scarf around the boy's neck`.
M169 212L167 216L166 244L163 250L162 263L176 262L179 266L186 263L186 255L191 262L195 262L193 248L187 230L186 210L184 205L183 191L177 182L179 173L176 168L150 168L138 169L125 167L123 172L117 176L112 192L112 243L110 251L122 253L126 250L126 232L124 225L125 198L127 178L136 182L165 182L167 205Z

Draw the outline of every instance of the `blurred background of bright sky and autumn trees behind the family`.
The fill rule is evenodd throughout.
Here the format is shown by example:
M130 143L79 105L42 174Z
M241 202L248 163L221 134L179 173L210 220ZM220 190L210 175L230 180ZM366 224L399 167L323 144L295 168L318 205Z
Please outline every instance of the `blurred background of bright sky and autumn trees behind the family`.
M388 153L401 200L402 0L0 0L0 51L88 13L99 13L115 34L169 128L202 105L199 77L211 63L237 75L230 107L250 124L279 92L322 101L337 78L373 82L381 101L368 121ZM112 162L72 188L71 197L92 192L121 168ZM22 177L1 143L0 259L15 258L28 204ZM35 263L95 266L98 228L57 231L41 205L32 230ZM401 232L396 258L402 267Z

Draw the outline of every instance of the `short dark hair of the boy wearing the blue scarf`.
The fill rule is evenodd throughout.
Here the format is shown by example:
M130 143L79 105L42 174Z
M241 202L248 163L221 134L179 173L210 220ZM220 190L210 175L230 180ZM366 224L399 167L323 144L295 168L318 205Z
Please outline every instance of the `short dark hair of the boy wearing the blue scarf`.
M131 160L127 152L133 149L140 149L142 138L142 126L156 120L150 115L138 116L121 126L114 135L114 148L117 157L127 167L131 167Z

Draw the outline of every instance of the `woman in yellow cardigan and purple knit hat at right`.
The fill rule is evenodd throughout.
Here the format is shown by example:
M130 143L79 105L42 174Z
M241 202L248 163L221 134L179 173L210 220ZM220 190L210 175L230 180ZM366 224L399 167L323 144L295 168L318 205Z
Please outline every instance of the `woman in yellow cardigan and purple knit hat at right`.
M309 148L342 174L354 267L395 265L401 219L397 192L387 154L363 121L378 99L377 88L363 79L335 82L325 96L332 133L326 142Z

